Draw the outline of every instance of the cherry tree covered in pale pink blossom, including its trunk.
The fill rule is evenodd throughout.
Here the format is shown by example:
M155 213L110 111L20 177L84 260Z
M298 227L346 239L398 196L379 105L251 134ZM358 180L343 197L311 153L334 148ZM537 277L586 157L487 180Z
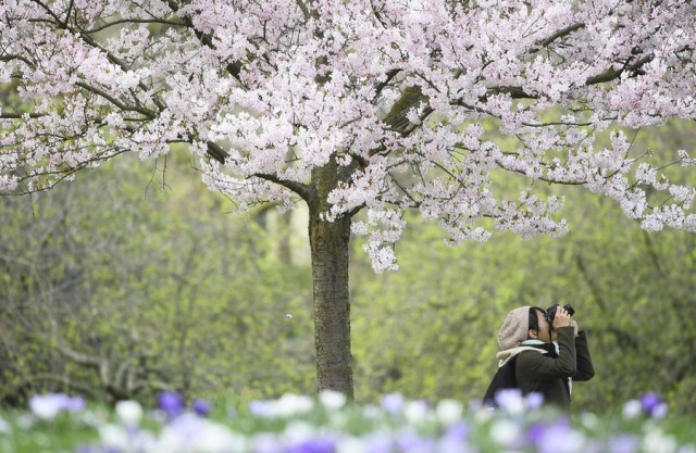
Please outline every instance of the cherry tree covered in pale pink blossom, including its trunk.
M3 0L0 187L185 148L240 211L304 203L318 387L352 394L352 234L377 272L409 210L452 244L562 235L538 181L696 229L672 172L696 161L633 146L695 117L695 17L688 0Z

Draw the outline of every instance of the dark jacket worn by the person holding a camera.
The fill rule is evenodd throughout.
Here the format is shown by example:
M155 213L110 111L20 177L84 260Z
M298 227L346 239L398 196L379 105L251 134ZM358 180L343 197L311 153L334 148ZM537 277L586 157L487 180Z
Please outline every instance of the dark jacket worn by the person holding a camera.
M523 394L542 393L545 403L568 410L572 385L569 378L589 380L595 368L584 331L575 337L573 327L561 327L557 332L560 354L556 354L555 348L544 348L546 353L522 351L517 358L515 377ZM552 347L552 343L548 344Z

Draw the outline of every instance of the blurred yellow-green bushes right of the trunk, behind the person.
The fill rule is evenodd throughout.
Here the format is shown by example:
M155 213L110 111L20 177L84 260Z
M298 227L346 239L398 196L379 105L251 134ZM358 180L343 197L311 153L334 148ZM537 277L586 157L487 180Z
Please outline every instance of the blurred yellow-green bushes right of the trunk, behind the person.
M481 397L507 312L563 301L577 310L597 370L574 386L576 407L611 411L654 390L693 413L696 238L647 234L597 197L568 191L567 204L571 231L560 240L505 235L448 249L439 228L409 218L398 272L374 276L356 253L358 398Z

